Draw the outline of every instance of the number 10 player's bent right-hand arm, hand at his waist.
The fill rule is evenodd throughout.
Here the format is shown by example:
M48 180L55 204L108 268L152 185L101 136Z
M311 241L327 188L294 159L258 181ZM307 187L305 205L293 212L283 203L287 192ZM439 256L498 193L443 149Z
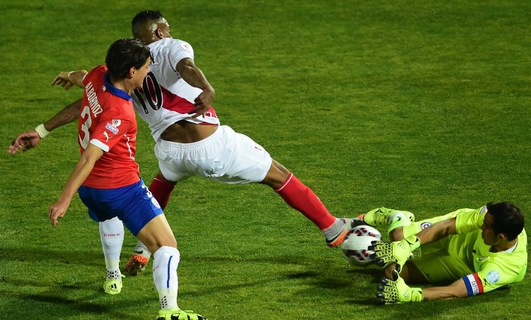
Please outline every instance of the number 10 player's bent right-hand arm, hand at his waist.
M214 101L214 96L216 95L214 88L205 78L203 71L190 58L184 58L177 62L175 70L177 70L182 79L188 82L189 85L203 90L194 100L194 106L196 108L194 109L194 116L192 118L203 115L212 106L212 101Z

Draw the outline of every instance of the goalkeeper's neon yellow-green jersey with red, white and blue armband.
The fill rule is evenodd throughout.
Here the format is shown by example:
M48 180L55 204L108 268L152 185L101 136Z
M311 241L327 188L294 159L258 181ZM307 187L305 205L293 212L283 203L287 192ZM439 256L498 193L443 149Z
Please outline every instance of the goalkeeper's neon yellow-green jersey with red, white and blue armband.
M521 282L528 265L528 237L523 230L515 247L504 252L490 252L481 238L481 224L486 206L477 210L460 209L446 216L456 217L457 235L450 235L450 256L465 259L475 272L463 280L469 296L492 291L507 284Z

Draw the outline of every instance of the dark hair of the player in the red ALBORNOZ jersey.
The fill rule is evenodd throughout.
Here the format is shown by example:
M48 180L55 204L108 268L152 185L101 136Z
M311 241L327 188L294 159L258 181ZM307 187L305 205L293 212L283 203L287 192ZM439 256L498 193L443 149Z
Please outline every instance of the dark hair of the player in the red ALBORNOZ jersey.
M112 80L122 80L129 77L131 68L141 68L149 57L147 45L137 39L123 38L110 45L105 64Z

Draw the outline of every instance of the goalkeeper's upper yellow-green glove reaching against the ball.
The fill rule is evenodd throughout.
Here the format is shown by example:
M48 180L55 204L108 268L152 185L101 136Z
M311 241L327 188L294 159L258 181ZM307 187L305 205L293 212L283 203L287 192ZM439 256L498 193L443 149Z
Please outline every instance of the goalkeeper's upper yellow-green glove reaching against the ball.
M384 267L395 262L402 267L411 253L420 246L421 241L415 235L395 242L373 241L368 249L374 251L370 257L375 260L377 266Z

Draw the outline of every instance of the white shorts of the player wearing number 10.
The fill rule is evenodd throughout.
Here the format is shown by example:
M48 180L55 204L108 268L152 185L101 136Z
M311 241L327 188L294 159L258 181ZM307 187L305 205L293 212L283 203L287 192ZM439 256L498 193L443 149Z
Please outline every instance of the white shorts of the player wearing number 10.
M166 179L179 182L199 175L217 182L261 182L271 167L269 153L251 138L229 126L196 143L157 141L155 155Z

